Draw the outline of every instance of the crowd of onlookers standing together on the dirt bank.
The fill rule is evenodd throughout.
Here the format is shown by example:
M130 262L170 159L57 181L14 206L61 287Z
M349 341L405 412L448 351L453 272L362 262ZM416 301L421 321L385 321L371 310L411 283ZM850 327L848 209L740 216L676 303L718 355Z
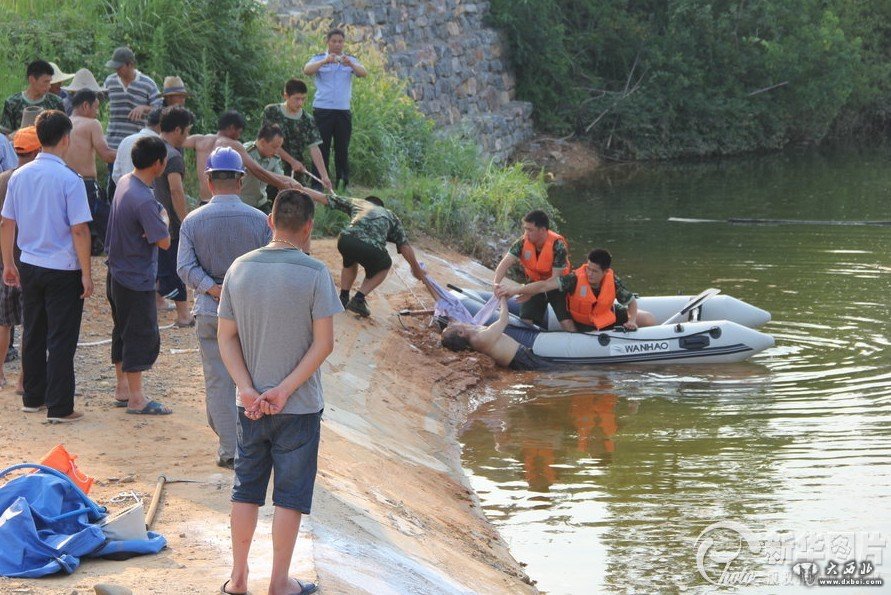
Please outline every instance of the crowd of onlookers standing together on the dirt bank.
M331 30L326 40L327 51L303 68L316 87L314 113L304 110L306 83L288 80L283 101L266 106L256 138L244 144L245 119L235 111L220 115L215 133L191 134L183 80L168 76L159 89L127 47L106 63L112 73L102 85L86 68L66 74L51 62L31 62L27 86L0 114L0 385L2 362L16 357L14 327L22 325L22 411L45 411L49 423L83 417L75 409L74 356L84 300L94 290L91 256L107 257L117 377L110 406L172 413L142 386L160 351L158 311L175 309L173 326L195 327L217 464L236 474L226 593L247 591L248 551L273 467L269 592L316 589L289 578L288 566L312 500L319 366L333 349L333 315L344 303L360 313L367 306L364 294L338 299L330 272L309 255L315 202L353 213L351 227L372 221L384 242L378 215L398 223L375 203L332 191L332 148L337 187L349 183L351 83L367 72L343 53L343 31ZM200 182L194 202L184 183L187 150L195 152ZM97 160L107 164L106 179L99 179ZM301 183L310 179L330 197ZM344 266L355 270L358 262L345 257Z

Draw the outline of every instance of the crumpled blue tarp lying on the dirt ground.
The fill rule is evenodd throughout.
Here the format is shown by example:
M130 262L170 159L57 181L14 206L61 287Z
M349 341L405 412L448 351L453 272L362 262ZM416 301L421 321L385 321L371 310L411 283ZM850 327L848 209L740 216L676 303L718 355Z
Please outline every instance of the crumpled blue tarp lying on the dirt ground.
M18 467L0 472L0 477ZM71 574L85 556L120 559L156 554L167 545L164 537L151 532L145 540L108 540L96 524L105 509L52 469L0 487L0 511L0 576Z

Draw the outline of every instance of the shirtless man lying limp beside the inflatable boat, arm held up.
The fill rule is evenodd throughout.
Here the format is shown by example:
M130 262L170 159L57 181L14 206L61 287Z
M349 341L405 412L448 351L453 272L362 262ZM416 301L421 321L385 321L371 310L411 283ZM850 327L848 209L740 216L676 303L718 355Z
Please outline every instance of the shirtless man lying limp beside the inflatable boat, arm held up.
M452 351L473 349L488 355L499 366L511 370L551 370L558 367L558 364L535 355L532 349L504 334L510 323L506 297L501 298L500 307L498 320L489 326L464 322L449 324L442 331L442 346Z

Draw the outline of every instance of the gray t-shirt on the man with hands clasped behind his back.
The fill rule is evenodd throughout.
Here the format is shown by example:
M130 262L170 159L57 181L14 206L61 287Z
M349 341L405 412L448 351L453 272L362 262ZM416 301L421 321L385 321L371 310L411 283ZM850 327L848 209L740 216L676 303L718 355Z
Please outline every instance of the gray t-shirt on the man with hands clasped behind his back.
M260 248L238 258L223 280L219 316L238 327L244 362L263 393L294 371L312 344L314 320L343 312L325 265L299 250ZM241 401L236 397L240 407ZM319 370L288 398L282 413L324 407Z

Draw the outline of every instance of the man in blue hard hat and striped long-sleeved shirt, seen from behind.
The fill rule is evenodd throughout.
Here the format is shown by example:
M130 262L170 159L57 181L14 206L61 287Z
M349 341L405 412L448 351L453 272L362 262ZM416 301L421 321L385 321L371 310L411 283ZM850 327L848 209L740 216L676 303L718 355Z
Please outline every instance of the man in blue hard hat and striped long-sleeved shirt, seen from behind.
M234 466L235 383L217 345L217 305L223 277L236 258L272 239L266 215L241 201L244 164L235 149L219 147L207 159L210 202L189 213L179 230L176 272L195 291L195 331L204 366L207 420L219 436L217 464Z

